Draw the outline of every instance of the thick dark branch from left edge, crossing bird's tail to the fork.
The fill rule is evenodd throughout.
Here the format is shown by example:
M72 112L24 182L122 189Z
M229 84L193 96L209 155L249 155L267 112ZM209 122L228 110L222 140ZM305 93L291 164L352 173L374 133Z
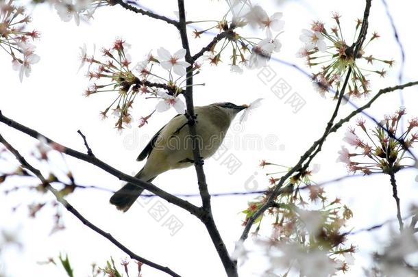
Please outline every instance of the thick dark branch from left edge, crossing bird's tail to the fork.
M24 125L5 117L0 110L0 122L3 122L4 124L8 125L9 127L12 127L13 129L16 129L18 131L21 131L22 133L25 133L31 137L36 138L37 140L40 137L45 137L45 140L47 143L51 144L58 144L51 140L49 137L46 137L45 135L42 135L38 133L38 131L35 131L34 129L30 129L28 127L25 127ZM73 150L69 147L62 146L64 148L63 153L66 155L69 155L71 157L75 157L76 159L80 159L82 161L86 161L87 163L91 163L94 166L97 166L98 168L101 168L102 170L112 174L113 176L117 177L120 180L133 183L135 185L138 185L139 187L143 187L144 189L149 190L149 192L152 192L153 194L156 194L163 198L164 200L167 200L167 202L170 202L178 207L181 207L185 209L186 211L192 213L193 215L200 215L201 211L199 210L199 207L196 207L195 205L191 204L188 201L182 200L181 198L175 197L172 194L169 194L168 192L165 192L164 190L156 187L155 185L151 183L147 183L144 181L141 181L140 179L137 179L133 176L127 175L119 170L116 170L116 168L113 168L112 166L108 165L108 163L105 163L101 161L100 159L97 159L95 156L89 156L87 154L81 153L77 150Z

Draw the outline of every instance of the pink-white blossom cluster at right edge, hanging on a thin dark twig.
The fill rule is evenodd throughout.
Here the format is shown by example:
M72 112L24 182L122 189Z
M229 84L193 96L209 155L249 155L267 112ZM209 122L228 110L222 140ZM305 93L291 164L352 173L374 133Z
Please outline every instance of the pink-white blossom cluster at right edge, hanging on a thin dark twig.
M344 141L355 150L342 146L337 161L345 163L353 173L394 174L406 168L408 149L418 142L418 118L408 120L408 127L402 133L400 122L405 114L406 109L402 107L395 114L384 116L384 120L373 129L367 129L365 120L358 119L357 127L365 137L362 138L357 129L350 128Z

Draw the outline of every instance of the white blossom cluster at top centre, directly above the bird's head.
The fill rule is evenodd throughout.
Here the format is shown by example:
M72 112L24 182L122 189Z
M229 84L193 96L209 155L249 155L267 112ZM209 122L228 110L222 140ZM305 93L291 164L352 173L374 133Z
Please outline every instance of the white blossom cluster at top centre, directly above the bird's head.
M243 72L243 66L266 66L273 52L279 52L282 47L278 36L284 27L283 14L275 12L269 15L260 5L252 5L250 1L228 0L227 3L229 10L221 21L210 21L214 25L202 31L194 31L196 38L212 29L226 32L225 40L220 40L210 48L210 55L207 56L210 64L219 64L221 55L228 48L231 50L232 72ZM245 26L265 31L265 38L253 38L254 34L241 34Z

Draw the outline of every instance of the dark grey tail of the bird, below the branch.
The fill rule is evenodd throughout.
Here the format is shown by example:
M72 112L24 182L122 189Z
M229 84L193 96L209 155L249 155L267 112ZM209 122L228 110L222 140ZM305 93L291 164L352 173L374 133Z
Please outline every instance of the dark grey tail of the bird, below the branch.
M141 179L141 172L142 170L138 172L135 177ZM147 180L147 182L151 182L153 179L155 179L155 177ZM144 189L138 187L138 185L127 183L112 195L110 198L110 204L115 205L118 210L125 212L130 209L132 204L136 201L136 198L138 198L143 191Z

